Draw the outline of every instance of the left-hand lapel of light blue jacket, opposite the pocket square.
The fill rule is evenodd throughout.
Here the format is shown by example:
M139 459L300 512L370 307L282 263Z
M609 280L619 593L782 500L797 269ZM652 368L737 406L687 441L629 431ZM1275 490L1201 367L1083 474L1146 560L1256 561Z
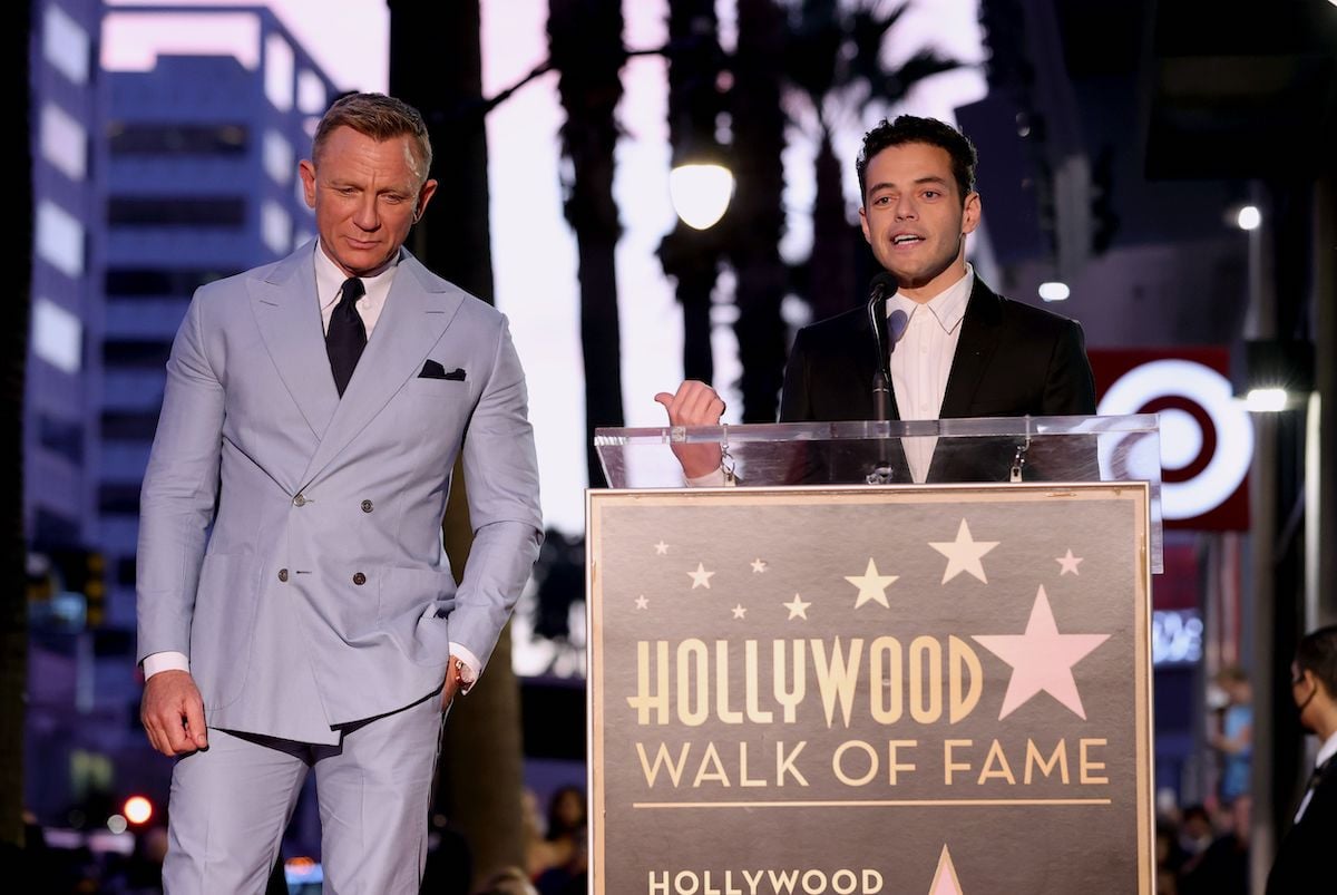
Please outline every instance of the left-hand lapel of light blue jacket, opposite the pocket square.
M329 375L321 308L316 298L314 246L306 243L250 282L251 310L278 376L317 439L338 407Z

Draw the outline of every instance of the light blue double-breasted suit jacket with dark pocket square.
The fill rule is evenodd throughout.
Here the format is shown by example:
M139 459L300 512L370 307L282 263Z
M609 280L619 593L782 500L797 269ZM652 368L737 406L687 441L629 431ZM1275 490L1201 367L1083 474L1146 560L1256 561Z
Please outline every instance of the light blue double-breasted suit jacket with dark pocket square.
M189 657L211 728L336 742L439 688L452 642L487 662L541 512L503 314L402 252L340 397L316 250L190 304L140 498L138 653ZM441 520L461 452L456 587Z

